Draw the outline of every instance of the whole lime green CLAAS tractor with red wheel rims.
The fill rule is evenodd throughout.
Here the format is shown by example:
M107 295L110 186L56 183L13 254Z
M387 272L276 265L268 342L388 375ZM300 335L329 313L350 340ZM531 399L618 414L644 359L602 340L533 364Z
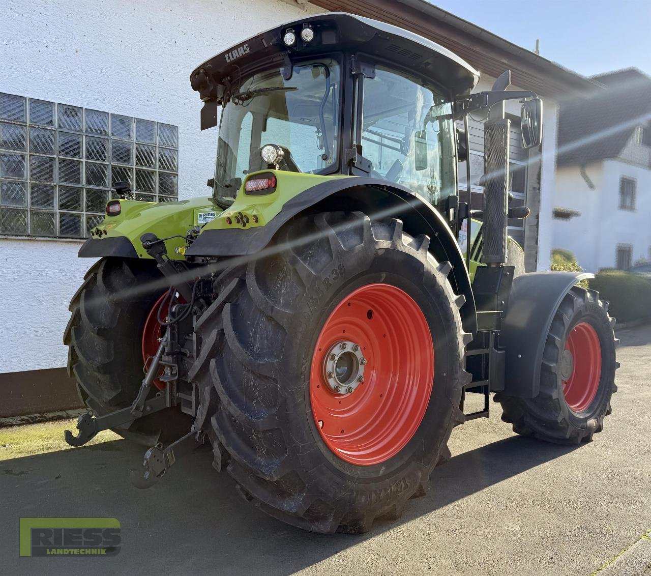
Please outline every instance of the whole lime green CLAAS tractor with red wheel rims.
M219 123L212 195L115 185L79 251L99 260L64 336L89 408L69 444L111 428L150 446L137 487L210 444L260 510L364 532L426 493L491 392L516 433L602 430L607 302L577 286L589 274L523 273L507 237L529 210L509 206L505 100L537 148L536 94L506 91L508 71L472 93L478 72L449 50L341 13L253 36L190 81L202 130ZM469 114L486 121L482 207L458 195ZM464 414L466 394L484 409Z

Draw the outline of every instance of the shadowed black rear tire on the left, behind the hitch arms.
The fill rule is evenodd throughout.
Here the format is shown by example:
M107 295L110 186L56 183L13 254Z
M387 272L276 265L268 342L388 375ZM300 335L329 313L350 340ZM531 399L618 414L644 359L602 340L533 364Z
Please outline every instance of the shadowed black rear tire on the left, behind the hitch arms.
M76 379L83 404L99 416L126 408L138 393L145 377L143 331L164 289L144 293L133 289L160 278L153 261L102 258L72 297L63 339L68 345L68 374ZM148 324L151 332L151 319ZM168 408L112 430L153 446L177 440L191 425L189 416Z

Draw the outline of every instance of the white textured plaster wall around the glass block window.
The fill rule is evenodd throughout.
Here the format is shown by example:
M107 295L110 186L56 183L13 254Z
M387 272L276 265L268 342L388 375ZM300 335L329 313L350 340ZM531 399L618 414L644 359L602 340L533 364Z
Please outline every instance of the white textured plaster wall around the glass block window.
M206 194L216 131L200 132L189 74L305 14L281 0L3 0L0 92L176 124L179 195ZM92 260L81 242L0 238L0 373L65 366L68 302Z

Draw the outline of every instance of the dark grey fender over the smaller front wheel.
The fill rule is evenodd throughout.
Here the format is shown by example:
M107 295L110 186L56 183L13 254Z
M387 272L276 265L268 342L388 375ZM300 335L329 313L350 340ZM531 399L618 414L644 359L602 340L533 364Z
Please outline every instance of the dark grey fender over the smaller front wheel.
M501 394L535 398L540 392L542 353L551 321L562 299L587 272L530 272L513 280L508 310L499 333L506 349L505 386Z

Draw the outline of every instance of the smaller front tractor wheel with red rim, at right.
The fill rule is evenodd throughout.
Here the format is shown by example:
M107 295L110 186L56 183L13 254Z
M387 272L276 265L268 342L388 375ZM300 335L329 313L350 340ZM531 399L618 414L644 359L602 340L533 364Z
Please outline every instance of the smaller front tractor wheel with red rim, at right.
M580 444L601 432L616 392L615 319L599 293L575 286L556 311L543 353L540 394L496 394L513 431L556 444Z

